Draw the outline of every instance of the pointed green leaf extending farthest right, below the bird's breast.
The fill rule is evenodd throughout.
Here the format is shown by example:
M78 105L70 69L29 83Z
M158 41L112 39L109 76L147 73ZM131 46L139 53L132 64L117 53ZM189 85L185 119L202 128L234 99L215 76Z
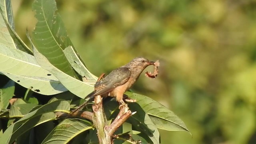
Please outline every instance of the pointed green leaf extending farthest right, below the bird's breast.
M184 122L162 104L140 94L131 92L127 92L126 94L130 98L137 100L137 103L150 116L151 120L158 128L170 131L189 132Z

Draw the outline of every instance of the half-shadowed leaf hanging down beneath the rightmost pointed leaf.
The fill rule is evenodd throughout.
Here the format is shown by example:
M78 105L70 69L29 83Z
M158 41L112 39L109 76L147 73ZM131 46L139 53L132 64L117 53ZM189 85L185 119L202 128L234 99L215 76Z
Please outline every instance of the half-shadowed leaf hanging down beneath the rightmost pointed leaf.
M135 130L146 134L153 144L159 144L160 134L148 114L137 103L130 103L129 108L132 112L136 111L136 114L128 118L128 122Z

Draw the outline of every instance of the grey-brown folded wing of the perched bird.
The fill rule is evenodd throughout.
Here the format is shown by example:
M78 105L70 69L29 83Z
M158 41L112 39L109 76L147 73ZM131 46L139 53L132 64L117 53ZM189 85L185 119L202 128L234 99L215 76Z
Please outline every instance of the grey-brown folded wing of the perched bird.
M131 71L129 68L120 67L116 70L113 70L104 79L102 79L99 82L96 82L94 86L94 96L106 94L114 88L116 88L117 86L125 84L129 80L130 76Z

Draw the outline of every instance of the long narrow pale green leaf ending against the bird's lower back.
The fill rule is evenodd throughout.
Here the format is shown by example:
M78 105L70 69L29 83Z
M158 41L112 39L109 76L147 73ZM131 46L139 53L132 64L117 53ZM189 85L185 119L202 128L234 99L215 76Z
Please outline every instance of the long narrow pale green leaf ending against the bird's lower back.
M60 82L73 94L80 98L85 98L88 94L90 94L94 90L94 83L82 82L69 76L68 74L58 70L54 67L45 56L40 54L36 48L33 47L34 56L42 66L46 70L49 70L54 76L56 76Z

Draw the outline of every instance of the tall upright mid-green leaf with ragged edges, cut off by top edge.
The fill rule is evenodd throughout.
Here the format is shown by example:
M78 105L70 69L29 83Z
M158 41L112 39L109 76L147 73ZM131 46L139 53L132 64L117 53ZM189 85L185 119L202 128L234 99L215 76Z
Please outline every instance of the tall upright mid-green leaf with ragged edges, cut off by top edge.
M35 0L33 10L38 20L32 34L32 41L38 51L60 71L76 78L62 49L72 46L63 22L56 12L55 0Z

